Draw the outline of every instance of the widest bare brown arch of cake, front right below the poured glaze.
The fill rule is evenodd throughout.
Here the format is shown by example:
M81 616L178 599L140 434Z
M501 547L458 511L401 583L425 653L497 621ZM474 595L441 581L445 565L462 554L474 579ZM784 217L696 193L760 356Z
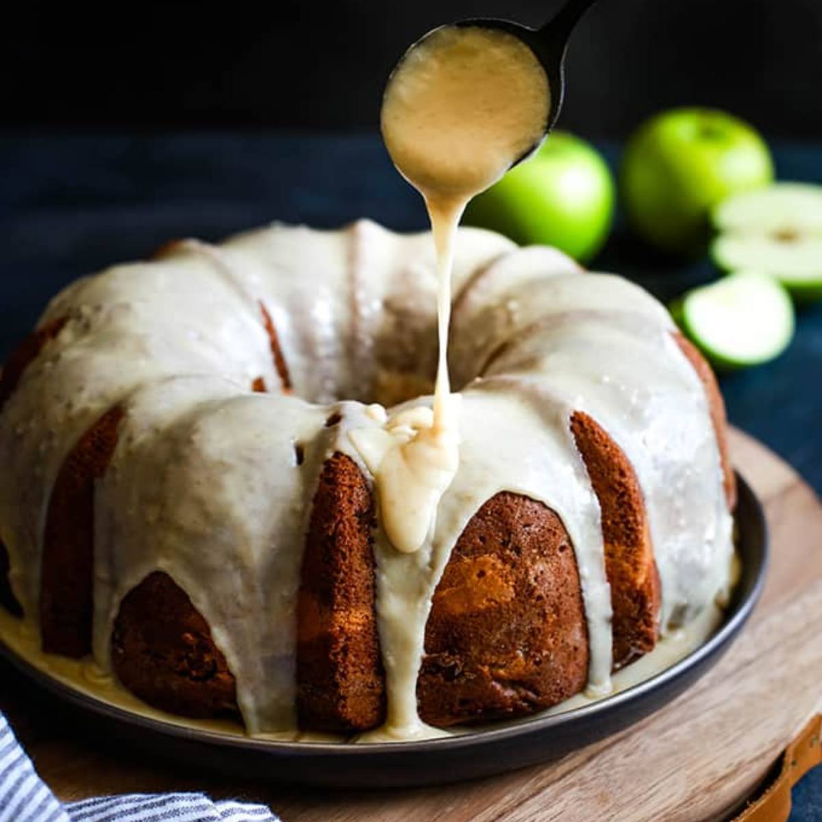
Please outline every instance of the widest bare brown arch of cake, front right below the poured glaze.
M436 587L417 698L437 727L531 713L578 693L588 637L570 538L510 492L469 521Z

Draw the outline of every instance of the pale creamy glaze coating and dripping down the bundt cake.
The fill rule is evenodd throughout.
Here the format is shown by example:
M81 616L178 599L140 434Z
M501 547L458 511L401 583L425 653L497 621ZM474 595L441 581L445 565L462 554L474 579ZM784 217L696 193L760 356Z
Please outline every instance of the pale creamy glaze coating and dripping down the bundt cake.
M318 268L323 245L339 254ZM58 468L81 433L122 403L127 417L96 506L96 669L111 670L108 638L122 595L165 570L210 622L249 731L293 733L293 597L316 473L339 450L373 482L351 436L383 427L377 409L333 398L432 381L433 256L430 235L371 223L336 233L274 226L219 247L186 243L164 260L116 266L58 295L43 321L69 316L67 326L0 417L0 537L26 629L37 635L44 515ZM334 291L326 302L327 281L344 298ZM672 344L664 309L620 278L477 229L459 231L455 293L459 467L418 552L397 552L384 529L376 532L382 653L396 677L388 736L427 733L415 724L413 690L395 683L415 681L431 593L490 496L509 490L543 501L566 525L580 571L586 562L602 566L598 505L569 435L574 409L607 427L635 466L663 578L663 630L689 624L729 584L718 448L704 391ZM278 379L260 299L272 316L291 317L281 339L293 396L249 390L256 376L272 388ZM332 338L335 356L356 356L363 367L341 363L338 376L330 369L320 379L308 352ZM302 398L312 390L332 401ZM432 397L387 418L420 408L432 413ZM335 412L341 422L326 427ZM584 586L593 660L595 647L610 651L609 607L596 575ZM413 619L408 603L418 609Z

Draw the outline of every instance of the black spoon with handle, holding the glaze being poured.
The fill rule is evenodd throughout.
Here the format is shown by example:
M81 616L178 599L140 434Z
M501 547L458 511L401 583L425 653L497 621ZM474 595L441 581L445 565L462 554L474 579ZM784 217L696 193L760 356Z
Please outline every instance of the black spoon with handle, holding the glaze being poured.
M548 109L545 131L535 145L531 146L521 157L517 158L512 167L521 160L531 155L538 145L543 141L545 135L551 131L559 117L562 108L562 99L565 97L565 57L568 50L568 40L574 26L580 21L580 17L588 11L596 0L567 0L559 11L545 25L538 29L529 28L510 20L501 20L496 17L476 17L470 20L460 20L455 23L446 24L439 28L447 28L449 25L459 27L476 26L481 29L495 29L508 32L526 44L536 55L548 78L548 89L551 93L550 108ZM414 43L405 53L407 56L417 48L423 40L427 39L436 30L433 29ZM403 62L405 56L399 61L397 66ZM395 70L396 71L396 68Z

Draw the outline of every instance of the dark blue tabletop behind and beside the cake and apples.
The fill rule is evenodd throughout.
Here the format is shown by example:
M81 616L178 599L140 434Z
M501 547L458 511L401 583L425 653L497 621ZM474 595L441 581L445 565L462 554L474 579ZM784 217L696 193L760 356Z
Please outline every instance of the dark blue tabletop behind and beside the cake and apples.
M617 161L615 146L603 150ZM822 145L776 145L776 159L781 178L822 182ZM271 219L426 226L418 195L372 135L5 136L0 181L0 357L63 284L169 238L216 240ZM594 266L665 299L713 276L705 262L650 256L619 224ZM722 382L732 423L822 492L822 305L801 311L776 362ZM822 770L796 797L794 822L822 820Z

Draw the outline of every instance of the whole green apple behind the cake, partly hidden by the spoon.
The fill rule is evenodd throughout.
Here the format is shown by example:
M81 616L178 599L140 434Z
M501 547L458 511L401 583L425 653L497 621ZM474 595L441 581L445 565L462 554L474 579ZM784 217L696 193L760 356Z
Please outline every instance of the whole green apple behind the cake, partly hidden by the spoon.
M469 203L465 222L587 261L605 242L614 199L611 172L598 152L579 137L552 132L532 157Z

